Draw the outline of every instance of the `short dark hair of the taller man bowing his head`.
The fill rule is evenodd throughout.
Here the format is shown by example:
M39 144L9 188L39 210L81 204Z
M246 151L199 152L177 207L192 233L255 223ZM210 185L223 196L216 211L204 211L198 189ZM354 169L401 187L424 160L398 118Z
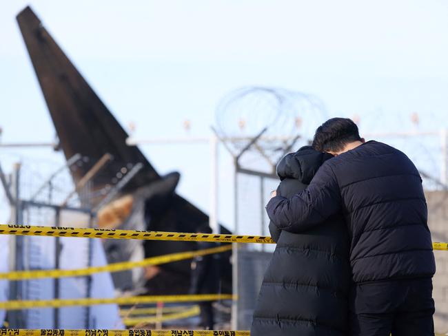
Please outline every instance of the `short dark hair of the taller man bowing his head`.
M341 151L347 143L361 140L358 126L349 118L332 118L316 129L313 147L316 151Z

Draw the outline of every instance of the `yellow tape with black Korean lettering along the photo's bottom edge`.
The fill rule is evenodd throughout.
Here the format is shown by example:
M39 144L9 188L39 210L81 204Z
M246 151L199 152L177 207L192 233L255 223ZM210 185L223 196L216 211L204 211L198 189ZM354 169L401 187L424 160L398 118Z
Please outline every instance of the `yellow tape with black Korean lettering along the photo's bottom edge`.
M0 336L250 336L249 330L0 329Z

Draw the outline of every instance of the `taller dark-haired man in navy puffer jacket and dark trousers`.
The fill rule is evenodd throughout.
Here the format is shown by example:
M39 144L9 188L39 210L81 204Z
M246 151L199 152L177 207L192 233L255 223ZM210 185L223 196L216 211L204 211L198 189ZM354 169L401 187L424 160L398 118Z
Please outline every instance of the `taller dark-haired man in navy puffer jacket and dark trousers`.
M269 218L278 229L300 233L343 212L354 281L351 335L434 335L436 265L418 170L398 149L365 142L346 118L318 127L313 147L336 157L304 191L273 197Z

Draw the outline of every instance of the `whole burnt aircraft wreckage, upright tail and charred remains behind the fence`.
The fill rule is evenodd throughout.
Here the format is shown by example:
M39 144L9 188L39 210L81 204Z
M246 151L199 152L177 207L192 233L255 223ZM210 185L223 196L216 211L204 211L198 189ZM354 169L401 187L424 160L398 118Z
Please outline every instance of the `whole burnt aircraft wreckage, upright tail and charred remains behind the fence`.
M75 185L82 182L95 164L107 161L90 180L91 196L81 198L83 206L98 209L99 226L196 232L207 223L209 218L203 211L175 192L179 173L159 175L137 147L126 144L128 134L31 8L22 10L17 22L59 138L58 147L67 160L77 154L89 159L87 164L70 171ZM119 182L117 174L122 177ZM224 227L221 232L230 233ZM196 248L194 242L106 240L104 244L109 262ZM223 270L221 291L231 293L230 253L221 255L219 260ZM163 264L140 275L130 271L112 275L115 285L122 290L143 283L145 293L186 293L190 285L190 260Z

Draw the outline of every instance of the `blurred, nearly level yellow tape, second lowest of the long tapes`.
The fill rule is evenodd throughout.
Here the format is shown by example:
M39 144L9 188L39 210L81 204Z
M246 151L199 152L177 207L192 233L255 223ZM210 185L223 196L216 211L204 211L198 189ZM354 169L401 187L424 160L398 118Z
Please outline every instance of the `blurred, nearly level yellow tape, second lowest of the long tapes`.
M54 300L13 300L0 302L0 310L14 311L32 308L60 308L67 306L92 306L96 304L155 304L157 302L198 302L216 300L236 300L232 294L199 294L199 295L151 295L132 297L112 297L96 299L54 299ZM1 336L1 334L0 334Z

